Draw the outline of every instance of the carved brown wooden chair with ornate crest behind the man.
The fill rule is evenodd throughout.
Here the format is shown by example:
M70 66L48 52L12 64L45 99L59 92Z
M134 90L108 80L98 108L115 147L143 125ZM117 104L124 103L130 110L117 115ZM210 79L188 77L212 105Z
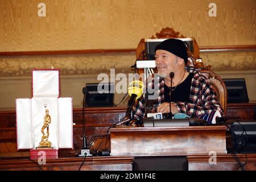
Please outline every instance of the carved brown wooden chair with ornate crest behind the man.
M163 28L159 33L156 33L155 36L152 36L150 39L170 39L170 38L186 38L182 34L180 35L179 32L175 32L173 28ZM227 104L227 91L226 91L226 85L224 81L221 79L220 76L218 76L216 73L214 73L210 68L210 65L204 66L204 63L202 62L200 58L200 51L199 46L193 38L193 52L190 52L187 48L188 52L188 63L187 65L195 67L200 70L201 73L205 77L207 77L211 84L214 91L217 93L218 100L220 102L220 105L222 106L224 110L224 114L226 115L226 104ZM141 39L141 41L138 44L138 47L136 49L136 56L137 60L145 60L146 59L146 53L145 53L145 40ZM138 73L141 74L144 72L144 69L137 69ZM154 72L157 72L157 69L155 68Z

